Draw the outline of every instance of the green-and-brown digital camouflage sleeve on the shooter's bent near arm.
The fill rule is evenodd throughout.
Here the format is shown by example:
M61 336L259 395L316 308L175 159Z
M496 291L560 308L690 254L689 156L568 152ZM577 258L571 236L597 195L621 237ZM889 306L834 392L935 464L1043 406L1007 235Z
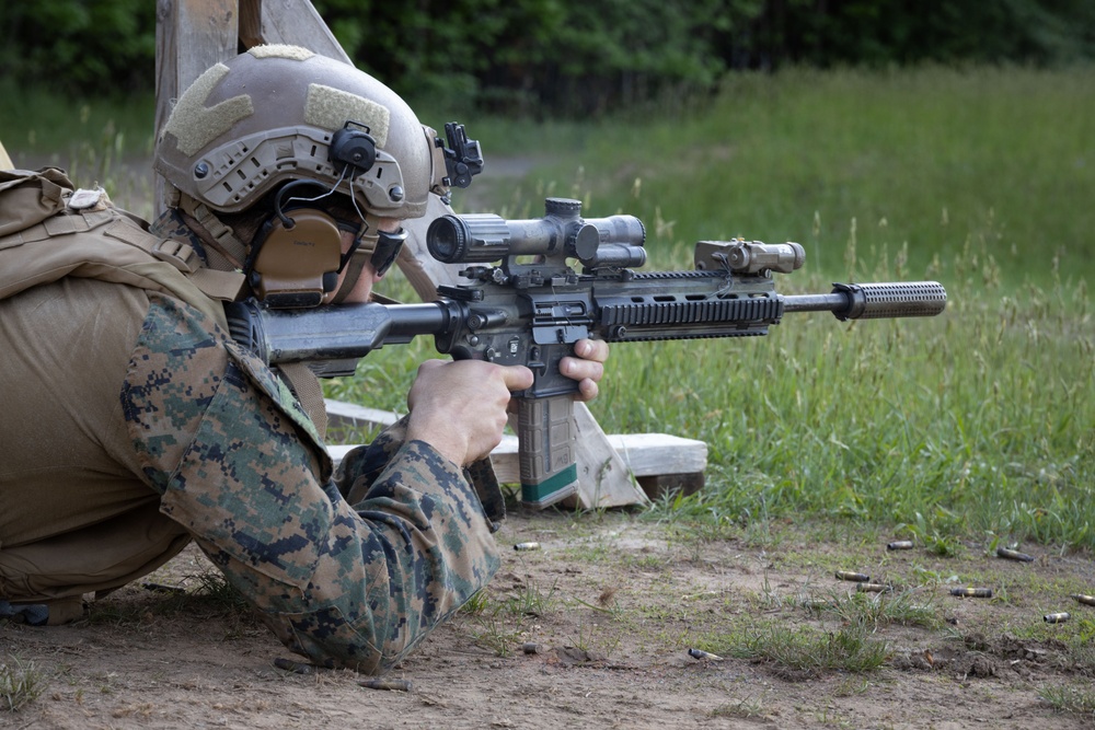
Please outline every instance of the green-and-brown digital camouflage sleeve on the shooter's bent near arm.
M497 549L456 464L396 434L336 480L280 379L151 300L122 393L145 478L286 646L382 672L491 579Z

